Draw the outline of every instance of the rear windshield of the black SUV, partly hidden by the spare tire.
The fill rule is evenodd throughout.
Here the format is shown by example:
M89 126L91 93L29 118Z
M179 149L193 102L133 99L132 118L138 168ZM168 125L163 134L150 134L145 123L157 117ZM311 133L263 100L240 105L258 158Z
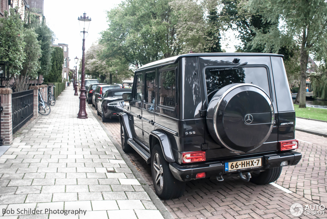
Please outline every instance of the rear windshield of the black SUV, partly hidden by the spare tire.
M226 68L205 68L207 94L229 84L248 83L261 87L270 96L267 69L265 67L223 69Z

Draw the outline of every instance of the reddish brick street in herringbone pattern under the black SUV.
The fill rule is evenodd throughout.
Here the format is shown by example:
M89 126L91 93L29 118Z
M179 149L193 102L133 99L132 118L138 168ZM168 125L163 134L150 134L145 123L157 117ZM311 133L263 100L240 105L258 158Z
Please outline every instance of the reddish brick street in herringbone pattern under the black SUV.
M92 107L94 113L96 110ZM98 116L100 119L100 116ZM112 137L120 145L118 119L104 123ZM186 183L184 195L177 199L163 200L174 218L293 218L291 203L327 205L326 145L324 137L296 131L302 160L296 166L283 168L276 184L290 190L286 193L274 185L244 183L238 177L217 182L198 179ZM154 190L150 166L136 152L127 154L148 185ZM326 218L301 216L300 218Z

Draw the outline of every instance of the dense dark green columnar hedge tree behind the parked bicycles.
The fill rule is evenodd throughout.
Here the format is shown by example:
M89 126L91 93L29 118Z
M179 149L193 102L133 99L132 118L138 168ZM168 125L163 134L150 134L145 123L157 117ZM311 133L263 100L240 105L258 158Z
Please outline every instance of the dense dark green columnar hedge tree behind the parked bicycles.
M49 74L44 76L44 82L54 83L62 82L62 65L63 65L63 50L60 47L54 47L51 55L51 70Z

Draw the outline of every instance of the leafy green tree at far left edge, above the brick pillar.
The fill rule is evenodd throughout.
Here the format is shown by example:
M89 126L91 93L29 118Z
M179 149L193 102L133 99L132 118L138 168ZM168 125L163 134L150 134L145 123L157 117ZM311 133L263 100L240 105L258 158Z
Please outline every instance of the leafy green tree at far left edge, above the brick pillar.
M0 18L0 56L3 61L9 61L10 78L19 75L23 69L26 57L24 53L23 22L14 9L10 9L10 16L5 11L5 17Z

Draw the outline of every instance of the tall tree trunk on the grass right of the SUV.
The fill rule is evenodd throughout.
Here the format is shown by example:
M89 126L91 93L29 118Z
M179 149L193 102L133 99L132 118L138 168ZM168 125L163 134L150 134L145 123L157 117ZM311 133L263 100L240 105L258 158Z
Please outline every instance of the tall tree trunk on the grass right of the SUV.
M299 87L299 108L306 108L305 106L305 93L306 93L306 70L308 64L309 53L306 48L306 27L303 27L303 35L302 35L302 45L301 45L301 54L300 54L300 87Z

